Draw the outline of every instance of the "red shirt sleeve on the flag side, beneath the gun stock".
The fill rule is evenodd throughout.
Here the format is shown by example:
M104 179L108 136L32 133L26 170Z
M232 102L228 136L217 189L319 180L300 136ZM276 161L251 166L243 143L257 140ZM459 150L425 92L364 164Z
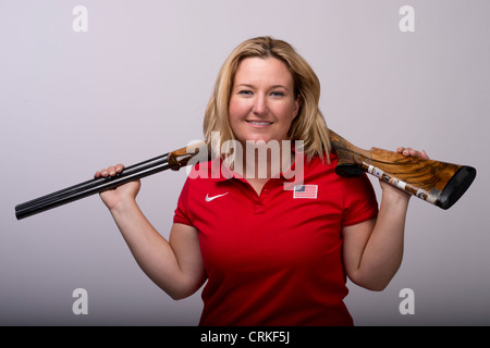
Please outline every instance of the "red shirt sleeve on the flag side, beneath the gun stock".
M346 178L342 226L352 226L378 215L378 201L375 189L366 174Z

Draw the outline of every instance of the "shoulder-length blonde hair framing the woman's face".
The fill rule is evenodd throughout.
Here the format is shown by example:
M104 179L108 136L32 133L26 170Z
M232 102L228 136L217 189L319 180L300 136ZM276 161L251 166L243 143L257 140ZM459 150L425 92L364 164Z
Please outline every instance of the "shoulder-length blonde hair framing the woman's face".
M318 107L320 100L318 76L290 44L272 37L256 37L241 44L223 63L204 119L203 128L208 145L212 132L220 132L221 144L235 140L228 109L236 70L246 58L275 58L285 63L293 76L295 95L301 98L301 108L291 124L287 140L303 140L303 152L308 160L314 156L322 157L324 152L330 153L327 123Z

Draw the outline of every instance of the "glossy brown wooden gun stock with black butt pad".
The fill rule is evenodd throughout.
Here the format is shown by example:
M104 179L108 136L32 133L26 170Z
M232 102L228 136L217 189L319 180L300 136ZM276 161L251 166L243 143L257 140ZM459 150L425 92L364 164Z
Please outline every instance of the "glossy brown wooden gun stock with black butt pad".
M476 176L473 166L405 157L378 148L364 150L329 132L338 156L338 175L354 177L367 172L442 209L451 208Z

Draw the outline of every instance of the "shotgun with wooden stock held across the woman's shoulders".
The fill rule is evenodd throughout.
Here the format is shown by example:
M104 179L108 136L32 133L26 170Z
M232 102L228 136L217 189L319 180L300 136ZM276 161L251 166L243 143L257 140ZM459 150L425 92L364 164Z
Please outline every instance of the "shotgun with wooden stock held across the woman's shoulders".
M367 172L444 210L451 208L464 195L476 176L476 170L468 165L405 157L378 148L364 150L333 130L330 129L329 133L332 149L338 156L338 175L355 177ZM206 145L203 142L201 146ZM17 204L15 216L21 220L168 169L179 171L188 164L198 153L198 149L199 145L184 147L130 165L115 176L89 179Z

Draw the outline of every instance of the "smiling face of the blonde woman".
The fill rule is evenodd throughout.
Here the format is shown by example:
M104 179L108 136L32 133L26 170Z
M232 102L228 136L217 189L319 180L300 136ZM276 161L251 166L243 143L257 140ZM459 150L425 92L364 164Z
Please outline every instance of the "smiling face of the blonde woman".
M247 58L235 73L229 104L238 141L285 140L299 110L287 66L275 58Z

